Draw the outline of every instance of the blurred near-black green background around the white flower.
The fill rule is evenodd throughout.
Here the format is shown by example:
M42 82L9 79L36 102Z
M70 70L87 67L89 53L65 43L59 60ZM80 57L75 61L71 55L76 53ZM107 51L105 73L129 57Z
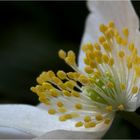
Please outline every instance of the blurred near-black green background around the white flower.
M140 15L140 2L133 4ZM0 2L0 103L38 103L30 87L41 71L70 70L57 52L78 54L87 14L84 1ZM117 115L104 138L140 138L139 132Z

